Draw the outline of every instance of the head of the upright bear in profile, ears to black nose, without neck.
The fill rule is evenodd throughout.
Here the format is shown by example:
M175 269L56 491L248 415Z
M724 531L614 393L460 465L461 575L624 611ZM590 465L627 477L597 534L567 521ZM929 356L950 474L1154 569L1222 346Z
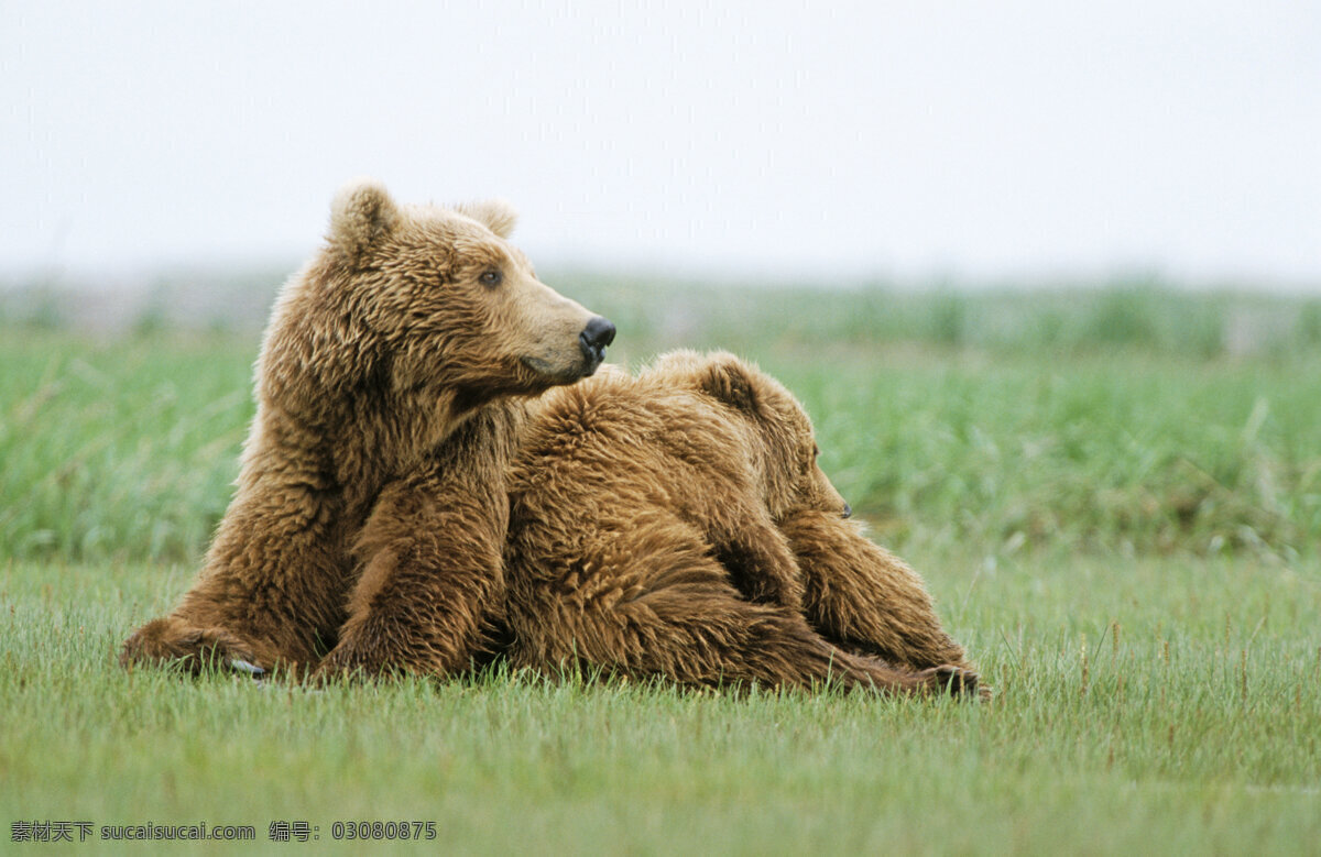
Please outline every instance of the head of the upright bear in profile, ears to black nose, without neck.
M378 383L476 405L596 371L614 326L536 279L506 240L514 219L498 202L396 206L373 184L341 191L322 302Z

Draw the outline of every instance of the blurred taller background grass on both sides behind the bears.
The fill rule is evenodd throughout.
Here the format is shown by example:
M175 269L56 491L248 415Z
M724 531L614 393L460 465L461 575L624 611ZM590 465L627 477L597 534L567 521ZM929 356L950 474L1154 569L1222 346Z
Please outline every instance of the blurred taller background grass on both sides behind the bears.
M616 362L724 347L782 378L900 551L1316 555L1321 300L548 280L616 321ZM4 293L0 555L199 555L252 413L259 281Z

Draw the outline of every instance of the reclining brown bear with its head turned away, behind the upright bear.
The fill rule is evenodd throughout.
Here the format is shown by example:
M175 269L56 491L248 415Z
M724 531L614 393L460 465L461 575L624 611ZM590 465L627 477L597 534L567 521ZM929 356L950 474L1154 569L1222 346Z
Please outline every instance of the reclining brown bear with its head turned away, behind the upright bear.
M509 479L509 656L683 684L976 695L921 578L845 522L811 423L729 354L552 391Z

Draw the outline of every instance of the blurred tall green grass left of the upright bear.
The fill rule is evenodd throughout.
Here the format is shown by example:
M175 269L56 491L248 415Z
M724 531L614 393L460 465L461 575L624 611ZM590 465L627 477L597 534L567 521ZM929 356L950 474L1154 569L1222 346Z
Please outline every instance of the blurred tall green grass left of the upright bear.
M255 357L255 338L0 333L0 556L197 556L238 475Z

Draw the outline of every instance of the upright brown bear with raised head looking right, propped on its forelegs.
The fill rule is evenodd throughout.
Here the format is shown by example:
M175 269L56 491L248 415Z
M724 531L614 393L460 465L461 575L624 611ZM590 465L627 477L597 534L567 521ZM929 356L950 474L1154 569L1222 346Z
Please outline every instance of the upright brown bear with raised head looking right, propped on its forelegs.
M499 592L520 397L590 375L614 326L542 284L503 203L333 203L256 366L236 494L193 588L122 660L448 672Z

